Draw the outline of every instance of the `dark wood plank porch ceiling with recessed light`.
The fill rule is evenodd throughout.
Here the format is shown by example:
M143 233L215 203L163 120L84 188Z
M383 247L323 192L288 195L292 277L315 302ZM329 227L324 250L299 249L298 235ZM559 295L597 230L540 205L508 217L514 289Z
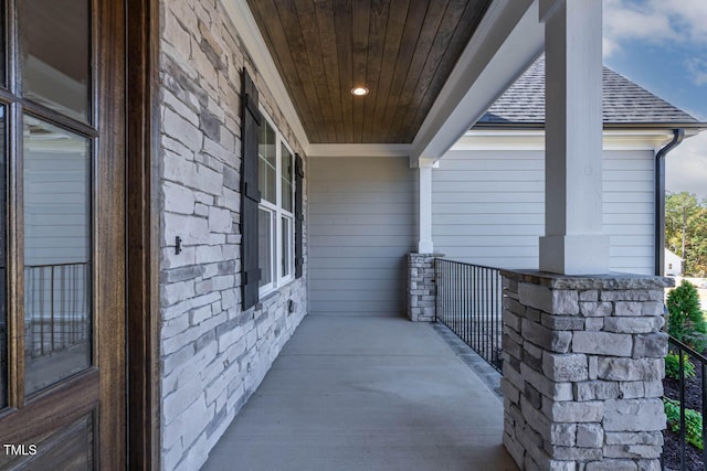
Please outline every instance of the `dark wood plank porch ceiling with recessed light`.
M490 0L247 3L309 142L410 143Z

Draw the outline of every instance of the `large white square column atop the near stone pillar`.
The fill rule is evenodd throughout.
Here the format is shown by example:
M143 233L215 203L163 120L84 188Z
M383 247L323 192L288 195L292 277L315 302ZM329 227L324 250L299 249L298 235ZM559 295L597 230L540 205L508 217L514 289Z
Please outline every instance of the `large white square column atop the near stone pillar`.
M540 0L546 51L540 270L609 272L602 234L602 2Z

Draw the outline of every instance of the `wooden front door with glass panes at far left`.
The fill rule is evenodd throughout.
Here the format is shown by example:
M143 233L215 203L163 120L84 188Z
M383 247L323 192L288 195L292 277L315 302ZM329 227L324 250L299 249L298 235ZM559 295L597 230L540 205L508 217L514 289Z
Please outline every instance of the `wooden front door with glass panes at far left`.
M0 469L125 469L124 6L0 6Z

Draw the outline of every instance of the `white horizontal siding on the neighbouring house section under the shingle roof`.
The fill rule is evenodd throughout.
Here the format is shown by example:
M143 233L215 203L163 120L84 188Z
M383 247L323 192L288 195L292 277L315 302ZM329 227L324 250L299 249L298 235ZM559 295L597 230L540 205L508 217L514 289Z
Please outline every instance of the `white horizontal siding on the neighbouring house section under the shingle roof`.
M614 271L653 272L653 152L605 151L603 224ZM538 268L545 234L545 156L450 151L433 178L435 251L503 268Z

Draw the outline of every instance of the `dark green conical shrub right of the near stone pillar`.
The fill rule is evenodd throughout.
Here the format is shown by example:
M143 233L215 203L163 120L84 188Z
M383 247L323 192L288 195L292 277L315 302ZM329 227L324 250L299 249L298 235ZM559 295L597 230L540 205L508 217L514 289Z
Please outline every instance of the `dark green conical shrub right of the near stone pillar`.
M707 324L703 318L703 311L699 309L697 289L689 281L683 280L680 286L667 296L666 306L668 310L667 333L701 352L705 347L705 339L695 338L694 334L707 333Z

